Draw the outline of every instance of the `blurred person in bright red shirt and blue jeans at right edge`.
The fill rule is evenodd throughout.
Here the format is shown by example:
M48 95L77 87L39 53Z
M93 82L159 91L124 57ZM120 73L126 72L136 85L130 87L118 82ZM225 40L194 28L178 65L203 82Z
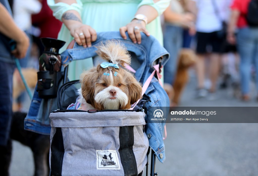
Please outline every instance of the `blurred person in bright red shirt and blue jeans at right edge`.
M237 43L237 49L240 55L240 81L241 81L241 99L248 101L250 99L250 81L252 63L256 72L256 91L258 91L258 23L251 24L247 21L249 3L252 1L252 7L256 8L251 16L258 19L258 1L257 0L234 0L231 5L230 22L228 26L227 39L229 43ZM235 33L237 33L235 35Z

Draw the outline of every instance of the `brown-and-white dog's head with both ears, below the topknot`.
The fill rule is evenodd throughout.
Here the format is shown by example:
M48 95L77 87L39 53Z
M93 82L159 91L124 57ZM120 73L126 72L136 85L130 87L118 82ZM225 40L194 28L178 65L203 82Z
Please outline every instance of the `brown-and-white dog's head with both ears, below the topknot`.
M123 68L100 65L85 71L80 81L82 95L95 109L130 109L142 98L142 87L134 76Z

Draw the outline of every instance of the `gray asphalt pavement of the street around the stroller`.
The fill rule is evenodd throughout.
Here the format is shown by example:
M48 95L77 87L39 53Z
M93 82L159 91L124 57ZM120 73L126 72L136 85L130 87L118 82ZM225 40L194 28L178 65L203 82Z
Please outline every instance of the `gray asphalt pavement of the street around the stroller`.
M193 71L189 73L190 80L179 106L252 106L258 111L254 83L251 84L252 98L249 102L234 98L231 88L219 89L216 100L195 99L196 79ZM155 172L158 175L258 175L257 123L167 123L166 129L166 160L160 163L156 159ZM31 150L13 141L10 175L33 173Z

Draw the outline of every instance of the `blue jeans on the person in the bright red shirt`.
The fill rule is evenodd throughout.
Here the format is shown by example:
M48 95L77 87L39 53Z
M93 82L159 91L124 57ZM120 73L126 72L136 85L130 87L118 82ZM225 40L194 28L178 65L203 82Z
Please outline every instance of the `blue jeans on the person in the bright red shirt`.
M237 47L240 55L240 80L242 94L249 93L251 67L256 71L256 90L258 90L258 28L242 28L237 34Z

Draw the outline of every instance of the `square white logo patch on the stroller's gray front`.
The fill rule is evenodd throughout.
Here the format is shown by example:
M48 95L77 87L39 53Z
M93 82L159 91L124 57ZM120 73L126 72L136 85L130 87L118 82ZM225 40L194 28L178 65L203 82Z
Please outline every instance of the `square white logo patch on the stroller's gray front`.
M116 150L96 150L97 169L120 170Z

